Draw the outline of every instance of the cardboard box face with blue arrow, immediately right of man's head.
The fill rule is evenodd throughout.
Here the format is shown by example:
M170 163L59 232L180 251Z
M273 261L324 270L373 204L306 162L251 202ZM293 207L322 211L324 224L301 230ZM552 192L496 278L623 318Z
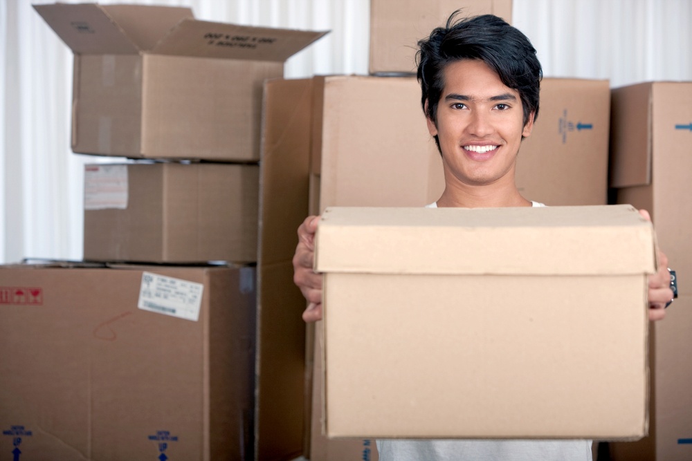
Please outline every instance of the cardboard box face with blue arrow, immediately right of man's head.
M608 199L608 80L544 78L534 131L520 147L516 185L546 205Z

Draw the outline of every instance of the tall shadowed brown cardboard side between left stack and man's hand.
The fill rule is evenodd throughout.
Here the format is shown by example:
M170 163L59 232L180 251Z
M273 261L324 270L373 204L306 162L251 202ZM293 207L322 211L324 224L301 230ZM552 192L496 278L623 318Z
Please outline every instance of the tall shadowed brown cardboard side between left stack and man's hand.
M295 229L302 223L302 220L307 216L308 211L308 185L309 185L309 170L310 170L310 149L308 148L293 148L282 149L282 155L277 155L277 144L281 144L283 140L290 141L284 136L298 135L300 139L298 144L309 144L310 133L309 129L294 129L286 132L289 126L289 121L293 120L300 126L309 124L310 120L303 118L300 114L289 111L282 111L279 115L280 122L284 127L284 131L280 133L272 133L277 136L276 139L269 139L267 133L268 123L268 101L271 97L271 86L273 81L283 79L270 79L264 82L263 95L263 110L262 110L262 138L261 138L261 154L260 160L260 230L259 230L259 248L258 248L258 263L257 263L257 356L255 357L255 459L260 460L275 460L275 459L292 459L302 454L304 450L305 440L304 434L307 429L304 425L305 417L305 402L300 399L307 397L305 373L303 369L300 377L297 374L291 375L293 380L291 383L291 401L288 402L291 406L291 415L278 415L282 418L281 424L291 424L291 430L297 429L300 431L300 437L296 435L295 440L291 439L290 443L286 440L286 434L282 434L282 439L277 440L276 431L281 431L280 427L264 426L261 415L264 411L275 411L271 408L271 398L285 398L281 394L278 396L262 394L261 379L264 386L273 386L274 388L286 388L285 385L277 386L277 383L267 383L266 377L262 377L263 370L271 370L276 366L286 364L286 361L296 359L296 357L286 356L291 351L290 348L284 347L280 351L282 357L277 357L279 354L271 355L272 350L265 350L266 345L262 339L266 338L271 332L262 331L264 328L265 319L275 319L277 315L284 322L284 341L302 341L305 339L305 324L300 317L300 312L305 308L305 300L300 294L300 290L293 284L293 267L291 258L293 250L295 250ZM311 82L309 79L295 79L291 81L294 84L303 82L305 88L303 92L289 91L280 96L282 104L292 104L291 100L297 100L304 104L312 104L311 102ZM307 94L307 97L306 97ZM298 108L295 108L298 111ZM295 132L294 132L295 131ZM273 143L270 145L270 143ZM271 155L270 155L271 154ZM287 157L288 156L288 157ZM280 171L277 171L279 170ZM285 171L290 169L290 171ZM282 191L291 190L292 194L286 196ZM273 194L272 192L275 191ZM280 196L281 195L281 196ZM286 200L289 200L286 202ZM270 211L276 211L277 205L281 205L281 216L273 216ZM271 229L271 230L268 230ZM286 239L285 245L267 245L268 239ZM281 283L286 285L271 285L271 281L266 281L267 275L275 276L273 281L279 282L276 278L279 274L282 279ZM280 302L276 299L264 299L271 294L270 291L285 290L282 293ZM293 290L293 292L289 292ZM271 341L270 341L271 342ZM293 344L290 344L291 346ZM305 348L302 350L302 360L304 357ZM298 384L293 383L294 380L300 379L300 392ZM285 402L285 401L284 401ZM295 422L289 419L302 418L303 426L295 428ZM290 436L291 438L293 435Z

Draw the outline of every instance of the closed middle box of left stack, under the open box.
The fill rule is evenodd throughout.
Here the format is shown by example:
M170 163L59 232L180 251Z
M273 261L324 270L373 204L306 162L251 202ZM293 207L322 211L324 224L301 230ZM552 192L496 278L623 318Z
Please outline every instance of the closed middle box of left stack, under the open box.
M257 261L257 164L84 167L84 258Z

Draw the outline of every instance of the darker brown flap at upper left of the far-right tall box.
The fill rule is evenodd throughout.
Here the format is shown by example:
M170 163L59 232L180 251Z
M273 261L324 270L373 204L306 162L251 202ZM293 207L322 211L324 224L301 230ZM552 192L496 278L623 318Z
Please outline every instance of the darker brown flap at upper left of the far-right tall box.
M610 187L651 182L651 84L611 92Z

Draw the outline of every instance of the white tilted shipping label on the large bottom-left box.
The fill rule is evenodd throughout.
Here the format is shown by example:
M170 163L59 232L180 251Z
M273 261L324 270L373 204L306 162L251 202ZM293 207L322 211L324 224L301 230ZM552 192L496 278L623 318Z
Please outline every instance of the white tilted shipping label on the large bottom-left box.
M137 307L197 321L203 290L201 283L144 272Z

